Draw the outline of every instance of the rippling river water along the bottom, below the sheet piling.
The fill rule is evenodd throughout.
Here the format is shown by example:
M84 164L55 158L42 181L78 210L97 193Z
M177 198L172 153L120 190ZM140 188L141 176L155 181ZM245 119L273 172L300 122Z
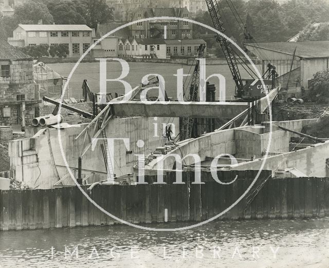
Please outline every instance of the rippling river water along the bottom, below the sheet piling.
M329 267L328 220L216 221L170 233L125 225L1 232L0 267Z

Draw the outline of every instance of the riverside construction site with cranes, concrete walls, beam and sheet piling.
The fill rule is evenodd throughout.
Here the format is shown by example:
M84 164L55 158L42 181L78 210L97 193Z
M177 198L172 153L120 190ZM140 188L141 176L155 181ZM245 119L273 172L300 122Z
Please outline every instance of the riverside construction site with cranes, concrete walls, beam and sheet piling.
M206 2L224 32L216 2ZM77 101L68 87L63 93L63 76L21 55L17 61L33 70L19 83L34 94L1 104L4 125L12 126L0 127L8 167L0 173L0 229L329 216L329 112L310 113L305 88L289 84L310 60L298 59L298 47L278 60L249 45L263 61L259 78L222 35L216 41L235 100L218 101L216 85L200 79L204 44L184 102L166 92L163 99L148 93L145 102L158 76L120 96L93 92L84 80ZM240 66L251 78L241 77Z

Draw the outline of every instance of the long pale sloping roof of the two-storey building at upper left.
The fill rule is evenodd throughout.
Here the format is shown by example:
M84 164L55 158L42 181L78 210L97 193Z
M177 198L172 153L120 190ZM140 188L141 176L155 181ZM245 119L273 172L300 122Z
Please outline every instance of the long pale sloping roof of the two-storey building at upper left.
M25 31L92 31L87 25L79 24L19 24Z

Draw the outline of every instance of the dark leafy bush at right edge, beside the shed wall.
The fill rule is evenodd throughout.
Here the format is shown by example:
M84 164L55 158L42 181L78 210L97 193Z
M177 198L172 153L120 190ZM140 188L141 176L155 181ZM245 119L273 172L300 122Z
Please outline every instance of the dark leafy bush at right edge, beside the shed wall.
M320 103L329 100L329 69L318 71L309 80L310 97Z

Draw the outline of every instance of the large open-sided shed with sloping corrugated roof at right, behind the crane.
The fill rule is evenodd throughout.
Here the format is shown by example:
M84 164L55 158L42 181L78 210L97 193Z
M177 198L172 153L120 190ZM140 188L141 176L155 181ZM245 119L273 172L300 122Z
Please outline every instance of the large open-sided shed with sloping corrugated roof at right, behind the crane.
M294 50L297 48L293 70L300 67L297 70L298 86L304 87L305 90L308 89L308 81L313 78L314 73L329 67L329 41L273 42L245 46L263 61L263 68L270 62L277 67L279 75L289 72Z

